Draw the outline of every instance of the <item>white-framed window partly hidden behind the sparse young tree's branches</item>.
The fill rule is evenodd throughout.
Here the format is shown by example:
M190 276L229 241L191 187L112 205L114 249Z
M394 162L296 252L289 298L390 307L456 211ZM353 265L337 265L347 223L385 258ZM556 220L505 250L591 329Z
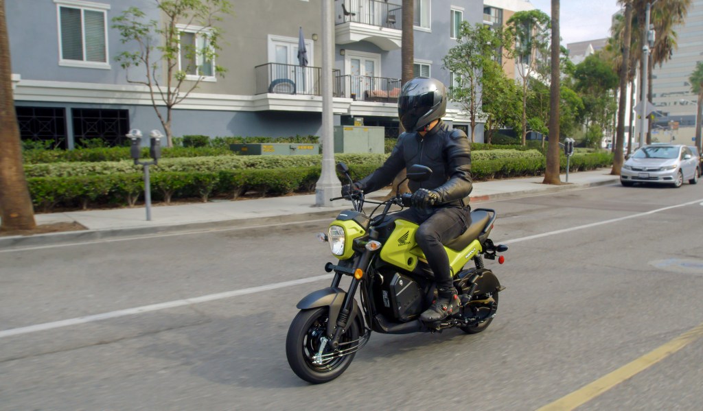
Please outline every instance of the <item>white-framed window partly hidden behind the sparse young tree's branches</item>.
M214 56L207 39L206 27L176 25L181 30L179 39L179 70L186 80L215 81Z

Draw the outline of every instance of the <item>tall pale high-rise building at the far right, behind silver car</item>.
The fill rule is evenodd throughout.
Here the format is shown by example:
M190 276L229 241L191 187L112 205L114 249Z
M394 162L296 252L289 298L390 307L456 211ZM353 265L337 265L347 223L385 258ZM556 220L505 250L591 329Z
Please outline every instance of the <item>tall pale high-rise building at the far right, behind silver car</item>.
M692 144L695 138L697 96L689 77L703 61L703 0L693 0L683 25L674 27L678 47L671 59L652 71L652 104L658 116L652 138L662 142Z

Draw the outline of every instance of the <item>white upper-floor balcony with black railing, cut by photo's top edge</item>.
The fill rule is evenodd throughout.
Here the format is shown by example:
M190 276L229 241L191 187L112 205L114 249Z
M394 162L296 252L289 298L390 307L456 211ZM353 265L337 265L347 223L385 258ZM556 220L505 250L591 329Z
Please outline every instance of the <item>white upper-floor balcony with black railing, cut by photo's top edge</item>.
M349 44L369 41L382 50L400 48L402 8L377 0L335 1L335 41Z

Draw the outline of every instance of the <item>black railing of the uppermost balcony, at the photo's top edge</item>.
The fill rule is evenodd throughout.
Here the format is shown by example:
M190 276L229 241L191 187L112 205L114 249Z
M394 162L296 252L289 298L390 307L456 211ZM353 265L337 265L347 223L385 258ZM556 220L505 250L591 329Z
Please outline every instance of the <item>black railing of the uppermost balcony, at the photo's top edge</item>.
M359 22L401 30L403 13L399 4L377 0L335 1L335 25Z

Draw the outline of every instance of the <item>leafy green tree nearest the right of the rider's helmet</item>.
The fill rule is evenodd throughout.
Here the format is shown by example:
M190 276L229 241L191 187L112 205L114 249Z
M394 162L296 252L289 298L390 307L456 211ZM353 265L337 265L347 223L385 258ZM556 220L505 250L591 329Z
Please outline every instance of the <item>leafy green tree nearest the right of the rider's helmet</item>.
M458 86L451 87L451 99L457 101L469 116L471 142L482 114L484 93L481 92L484 71L501 70L496 63L505 43L502 30L490 30L478 23L475 26L462 22L457 45L444 56L444 68L453 72Z

